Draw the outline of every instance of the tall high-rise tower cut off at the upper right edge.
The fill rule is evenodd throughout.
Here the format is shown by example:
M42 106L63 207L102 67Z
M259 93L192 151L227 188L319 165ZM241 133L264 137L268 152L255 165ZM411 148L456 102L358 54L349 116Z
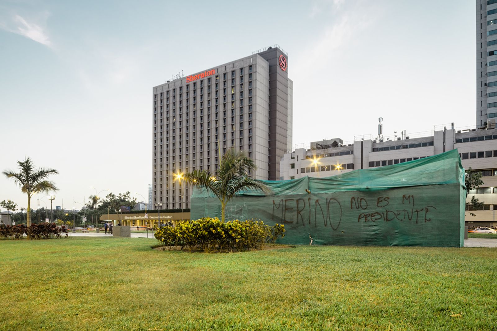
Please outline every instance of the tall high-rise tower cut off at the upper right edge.
M497 0L476 0L476 126L497 119Z

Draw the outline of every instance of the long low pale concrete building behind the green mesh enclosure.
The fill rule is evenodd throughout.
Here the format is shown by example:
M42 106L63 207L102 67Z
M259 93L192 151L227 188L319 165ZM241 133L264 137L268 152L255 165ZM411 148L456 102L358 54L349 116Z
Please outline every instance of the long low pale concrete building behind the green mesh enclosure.
M484 184L469 192L485 202L484 210L466 213L468 226L497 226L497 129L434 131L432 135L395 140L364 138L343 143L340 138L311 142L311 148L296 148L281 160L281 179L329 177L355 169L369 169L417 160L457 149L465 169L481 171Z

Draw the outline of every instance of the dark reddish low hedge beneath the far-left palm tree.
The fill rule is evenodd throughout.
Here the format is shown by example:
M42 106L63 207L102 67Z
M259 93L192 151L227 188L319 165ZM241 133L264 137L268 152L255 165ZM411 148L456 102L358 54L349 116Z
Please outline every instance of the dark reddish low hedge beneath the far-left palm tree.
M30 227L24 224L13 226L0 224L0 237L10 239L23 239L24 235L28 235L32 239L60 238L63 233L66 234L66 237L68 236L67 228L64 225L59 227L52 223L31 224Z

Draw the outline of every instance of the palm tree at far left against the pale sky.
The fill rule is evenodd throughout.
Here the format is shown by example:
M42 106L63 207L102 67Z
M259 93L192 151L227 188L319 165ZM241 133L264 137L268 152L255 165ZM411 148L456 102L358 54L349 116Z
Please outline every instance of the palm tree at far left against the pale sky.
M31 158L27 158L24 161L17 161L19 166L19 172L15 173L11 170L3 171L2 173L7 178L13 178L15 184L19 185L21 191L28 196L28 207L26 223L27 226L31 226L31 197L34 194L41 192L57 191L53 182L47 181L46 178L52 174L58 174L59 172L55 169L35 169Z

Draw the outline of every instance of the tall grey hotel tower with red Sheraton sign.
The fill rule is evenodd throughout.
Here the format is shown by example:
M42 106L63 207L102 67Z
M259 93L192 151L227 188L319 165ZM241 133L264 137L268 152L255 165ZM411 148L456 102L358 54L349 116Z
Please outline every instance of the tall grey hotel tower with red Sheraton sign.
M154 87L153 203L189 208L189 187L174 174L215 175L219 151L229 148L254 161L252 178L279 180L292 148L292 91L288 56L277 45Z

